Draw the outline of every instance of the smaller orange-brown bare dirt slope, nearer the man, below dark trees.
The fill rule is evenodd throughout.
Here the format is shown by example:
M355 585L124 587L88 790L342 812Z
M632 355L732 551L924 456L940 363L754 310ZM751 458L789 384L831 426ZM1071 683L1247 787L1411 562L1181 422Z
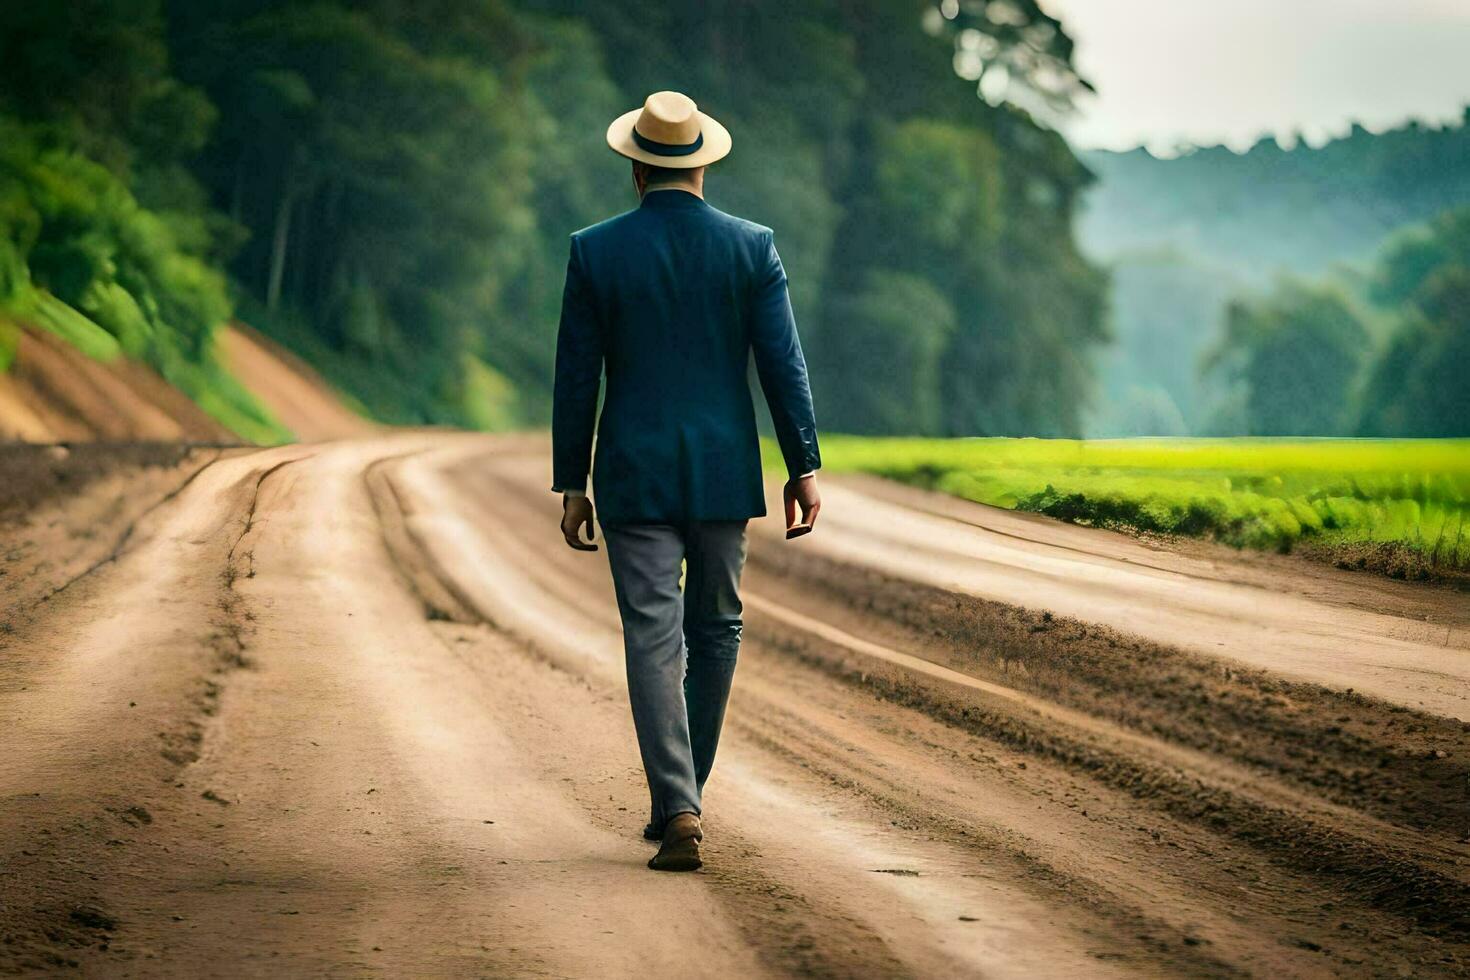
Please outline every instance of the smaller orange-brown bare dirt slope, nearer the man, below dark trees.
M375 429L344 406L310 364L244 323L219 332L219 353L229 373L303 442L369 435Z

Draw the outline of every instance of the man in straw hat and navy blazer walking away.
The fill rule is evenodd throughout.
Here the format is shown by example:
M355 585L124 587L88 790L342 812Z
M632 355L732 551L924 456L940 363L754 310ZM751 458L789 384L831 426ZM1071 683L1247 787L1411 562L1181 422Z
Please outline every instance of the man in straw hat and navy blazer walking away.
M595 551L595 430L591 469L653 798L644 836L662 840L648 867L692 871L739 649L745 522L766 513L751 356L789 476L788 538L816 525L822 458L772 232L704 203L704 167L729 153L729 132L666 91L613 120L607 143L634 162L641 206L572 235L553 491L567 545Z

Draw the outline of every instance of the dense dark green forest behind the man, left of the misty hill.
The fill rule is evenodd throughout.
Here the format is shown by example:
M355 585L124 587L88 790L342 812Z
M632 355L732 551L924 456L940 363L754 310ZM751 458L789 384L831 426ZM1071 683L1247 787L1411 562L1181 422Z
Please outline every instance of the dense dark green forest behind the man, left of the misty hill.
M379 417L542 420L566 235L635 203L607 122L679 88L735 132L709 195L776 229L828 425L1079 426L1105 282L1028 115L1085 85L1036 0L79 0L9 4L0 54L0 112L196 263L150 294L187 356L225 273Z

